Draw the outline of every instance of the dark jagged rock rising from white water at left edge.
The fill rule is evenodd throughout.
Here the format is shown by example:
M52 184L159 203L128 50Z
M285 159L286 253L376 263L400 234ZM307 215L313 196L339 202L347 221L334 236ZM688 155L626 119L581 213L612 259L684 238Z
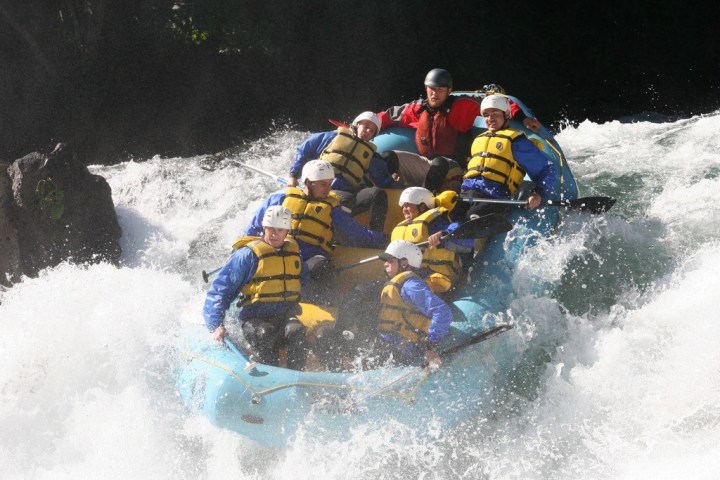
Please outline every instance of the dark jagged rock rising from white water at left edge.
M63 261L117 264L120 225L110 186L67 145L31 153L0 175L0 284ZM7 254L6 254L7 252Z

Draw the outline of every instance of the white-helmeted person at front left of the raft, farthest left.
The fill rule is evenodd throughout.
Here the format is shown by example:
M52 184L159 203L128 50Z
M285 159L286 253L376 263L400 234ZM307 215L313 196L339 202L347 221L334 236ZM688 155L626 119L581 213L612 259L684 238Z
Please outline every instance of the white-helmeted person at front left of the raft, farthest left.
M287 346L287 367L305 366L305 327L300 313L303 271L298 244L287 238L292 214L282 205L263 213L262 237L244 237L208 290L203 317L216 341L228 337L252 360L279 365L278 349ZM231 303L239 308L226 316Z

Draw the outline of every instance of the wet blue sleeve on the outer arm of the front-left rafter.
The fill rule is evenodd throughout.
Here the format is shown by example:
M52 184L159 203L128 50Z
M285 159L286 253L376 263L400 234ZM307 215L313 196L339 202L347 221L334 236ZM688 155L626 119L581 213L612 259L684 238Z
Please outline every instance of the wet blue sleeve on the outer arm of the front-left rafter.
M203 306L205 326L209 331L223 324L225 311L255 274L257 266L258 260L253 251L243 247L236 250L220 269L210 285Z

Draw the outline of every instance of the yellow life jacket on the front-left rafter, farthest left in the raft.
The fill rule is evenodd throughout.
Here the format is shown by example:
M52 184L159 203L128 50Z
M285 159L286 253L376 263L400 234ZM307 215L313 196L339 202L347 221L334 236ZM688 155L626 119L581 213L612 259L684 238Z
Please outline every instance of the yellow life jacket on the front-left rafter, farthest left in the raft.
M253 240L246 247L258 257L258 267L241 290L240 306L255 302L298 301L302 259L297 242L285 240L276 250L263 240Z

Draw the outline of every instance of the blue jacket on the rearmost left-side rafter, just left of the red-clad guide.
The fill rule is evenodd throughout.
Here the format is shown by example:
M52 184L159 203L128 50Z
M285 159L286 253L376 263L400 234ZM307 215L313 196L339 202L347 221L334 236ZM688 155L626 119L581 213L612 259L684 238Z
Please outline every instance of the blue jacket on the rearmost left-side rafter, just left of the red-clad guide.
M322 152L325 151L336 136L337 131L320 132L310 135L310 137L298 147L295 160L290 166L290 176L299 179L302 174L302 167L310 160L320 158ZM376 187L405 188L402 183L392 177L385 161L377 155L373 155L373 158L370 159L367 176ZM350 184L340 175L335 176L332 188L333 190L342 190L343 192L354 192Z

